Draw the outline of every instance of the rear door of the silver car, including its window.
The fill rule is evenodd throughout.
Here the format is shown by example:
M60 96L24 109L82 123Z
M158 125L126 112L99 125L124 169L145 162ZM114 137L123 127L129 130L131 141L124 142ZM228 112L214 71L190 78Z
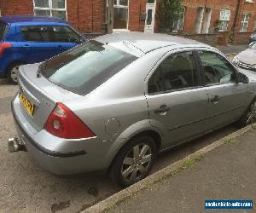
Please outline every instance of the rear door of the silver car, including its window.
M203 133L208 96L191 49L167 54L146 82L149 120L163 132L164 148Z

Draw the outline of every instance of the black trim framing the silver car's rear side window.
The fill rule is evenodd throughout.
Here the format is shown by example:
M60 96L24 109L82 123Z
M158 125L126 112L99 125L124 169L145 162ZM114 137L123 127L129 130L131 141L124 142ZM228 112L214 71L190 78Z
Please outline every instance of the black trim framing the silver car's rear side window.
M177 49L173 49L174 51ZM170 52L167 52L166 55L164 55L156 64L156 68L153 68L153 72L150 73L150 77L148 78L148 82L150 80L150 78L152 77L152 75L154 74L154 72L157 70L158 66L160 66L160 64L166 60L166 58L170 57L171 55L177 55L180 53L184 53L184 52L192 52L192 56L193 56L193 60L195 62L195 70L197 72L197 81L198 81L198 85L194 86L194 87L186 87L186 88L182 88L182 89L171 89L171 90L166 90L166 91L160 91L160 92L154 92L154 93L148 93L148 82L147 82L147 93L148 95L160 95L160 94L166 94L166 93L172 93L172 92L177 92L177 91L184 91L184 90L191 90L191 89L199 89L203 87L203 81L202 81L202 77L201 77L201 68L200 68L200 64L198 61L198 57L196 55L195 49L179 49L180 51L175 51L174 53L172 52L173 50L171 50L171 54Z

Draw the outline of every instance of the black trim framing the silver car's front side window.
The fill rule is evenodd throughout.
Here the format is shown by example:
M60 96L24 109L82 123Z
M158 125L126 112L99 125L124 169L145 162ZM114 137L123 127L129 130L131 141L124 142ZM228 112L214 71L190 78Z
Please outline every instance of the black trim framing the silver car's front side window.
M212 86L218 86L218 85L224 85L224 84L229 84L229 83L236 83L235 82L225 82L225 83L212 83L212 84L207 84L206 83L206 75L205 75L205 72L204 72L204 69L203 69L203 66L202 66L202 62L201 62L201 58L200 58L200 55L199 55L199 51L203 51L203 52L210 52L212 54L216 54L216 55L219 55L221 56L224 60L226 60L232 67L233 67L233 71L236 75L236 78L238 76L238 72L236 70L236 67L233 66L232 63L230 63L229 60L227 60L223 55L220 55L218 52L216 51L212 51L211 49L196 49L195 50L195 55L197 57L197 61L198 61L198 64L199 64L199 67L200 67L200 72L201 72L201 82L202 82L202 86L203 87L212 87Z

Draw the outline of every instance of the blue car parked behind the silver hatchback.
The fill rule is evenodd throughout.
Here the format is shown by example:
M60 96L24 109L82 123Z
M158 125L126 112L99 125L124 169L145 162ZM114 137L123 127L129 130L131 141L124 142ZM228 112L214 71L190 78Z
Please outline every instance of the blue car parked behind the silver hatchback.
M79 32L58 18L0 17L0 76L17 83L20 65L47 60L83 42Z

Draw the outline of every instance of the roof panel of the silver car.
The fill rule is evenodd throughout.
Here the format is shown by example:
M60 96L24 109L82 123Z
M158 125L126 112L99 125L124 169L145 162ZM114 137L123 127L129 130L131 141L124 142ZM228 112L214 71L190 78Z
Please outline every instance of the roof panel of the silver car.
M96 37L95 40L101 43L108 43L110 45L112 43L127 43L136 49L139 49L144 54L154 49L160 49L166 46L178 44L201 44L203 47L208 47L207 44L190 40L188 38L160 33L148 34L143 32L121 32Z

